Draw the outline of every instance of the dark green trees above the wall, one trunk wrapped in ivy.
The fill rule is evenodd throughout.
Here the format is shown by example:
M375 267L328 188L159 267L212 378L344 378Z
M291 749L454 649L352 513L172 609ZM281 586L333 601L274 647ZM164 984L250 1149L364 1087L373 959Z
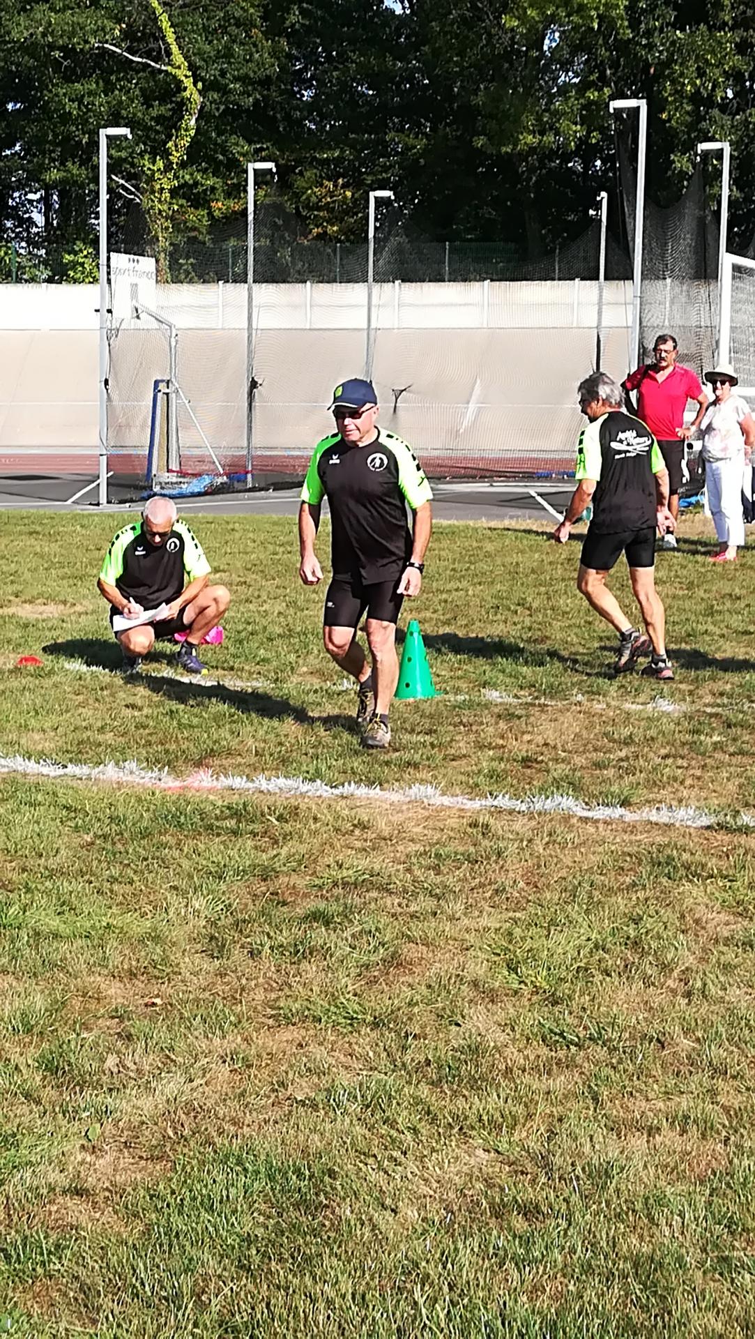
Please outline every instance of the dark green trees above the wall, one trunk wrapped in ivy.
M107 125L133 131L111 145L130 183L114 236L129 242L138 193L163 270L171 236L241 228L258 158L278 163L301 237L361 238L367 193L387 186L423 236L534 257L601 189L616 201L612 96L648 99L661 204L699 139L730 139L730 242L755 232L746 0L0 0L0 50L4 245L58 257L60 277L95 254Z

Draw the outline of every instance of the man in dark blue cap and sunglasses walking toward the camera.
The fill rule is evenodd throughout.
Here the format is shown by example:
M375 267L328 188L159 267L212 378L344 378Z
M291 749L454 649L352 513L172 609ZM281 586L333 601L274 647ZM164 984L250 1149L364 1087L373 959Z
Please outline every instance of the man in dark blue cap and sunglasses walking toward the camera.
M304 585L323 580L315 538L327 497L333 574L325 596L325 651L357 682L363 746L387 749L388 711L399 680L396 623L403 597L419 595L422 586L432 493L407 443L378 427L371 382L352 378L336 386L331 408L336 431L315 447L301 490L299 574ZM364 612L371 665L356 640Z

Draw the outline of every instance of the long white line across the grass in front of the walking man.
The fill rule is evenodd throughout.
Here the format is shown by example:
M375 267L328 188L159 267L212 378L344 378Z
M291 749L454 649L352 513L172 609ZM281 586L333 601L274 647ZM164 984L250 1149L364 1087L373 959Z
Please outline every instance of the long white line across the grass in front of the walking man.
M406 786L399 790L383 790L380 786L363 786L347 781L341 786L329 786L324 781L305 781L304 777L237 777L216 774L209 770L195 771L189 777L173 777L166 767L157 770L142 767L134 759L123 763L104 762L60 763L51 759L23 758L20 754L4 758L0 755L0 773L20 777L44 777L50 779L72 779L111 782L124 786L153 787L157 790L189 791L236 791L258 795L280 795L285 799L369 799L380 805L426 805L432 809L493 809L511 814L564 814L569 818L584 818L589 822L656 823L664 828L712 828L719 822L716 814L695 805L676 807L673 805L653 805L652 809L624 809L622 805L586 805L573 795L527 795L517 799L514 795L498 794L475 798L473 795L446 795L438 786ZM755 828L755 815L740 813L739 822Z

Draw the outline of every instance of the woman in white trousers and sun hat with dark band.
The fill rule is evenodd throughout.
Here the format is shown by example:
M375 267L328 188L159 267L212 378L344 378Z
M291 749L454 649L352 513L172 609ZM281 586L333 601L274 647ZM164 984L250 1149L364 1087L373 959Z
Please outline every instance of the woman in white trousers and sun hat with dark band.
M714 403L700 422L708 506L719 538L719 552L711 562L734 562L744 544L742 481L746 455L755 445L755 419L747 400L732 395L736 375L731 363L722 363L705 380L714 388Z

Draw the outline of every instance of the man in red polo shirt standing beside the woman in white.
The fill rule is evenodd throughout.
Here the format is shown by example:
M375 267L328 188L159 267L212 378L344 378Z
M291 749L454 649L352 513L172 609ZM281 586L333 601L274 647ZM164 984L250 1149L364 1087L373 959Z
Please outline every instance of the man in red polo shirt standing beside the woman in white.
M657 336L653 356L655 363L644 364L636 372L629 374L624 382L624 390L637 392L637 418L649 427L661 449L668 470L668 509L676 521L684 442L689 439L700 423L708 407L708 396L695 372L689 367L677 364L673 335ZM687 400L697 402L697 412L688 426L684 423ZM676 549L676 536L671 532L664 534L663 546L664 549Z

